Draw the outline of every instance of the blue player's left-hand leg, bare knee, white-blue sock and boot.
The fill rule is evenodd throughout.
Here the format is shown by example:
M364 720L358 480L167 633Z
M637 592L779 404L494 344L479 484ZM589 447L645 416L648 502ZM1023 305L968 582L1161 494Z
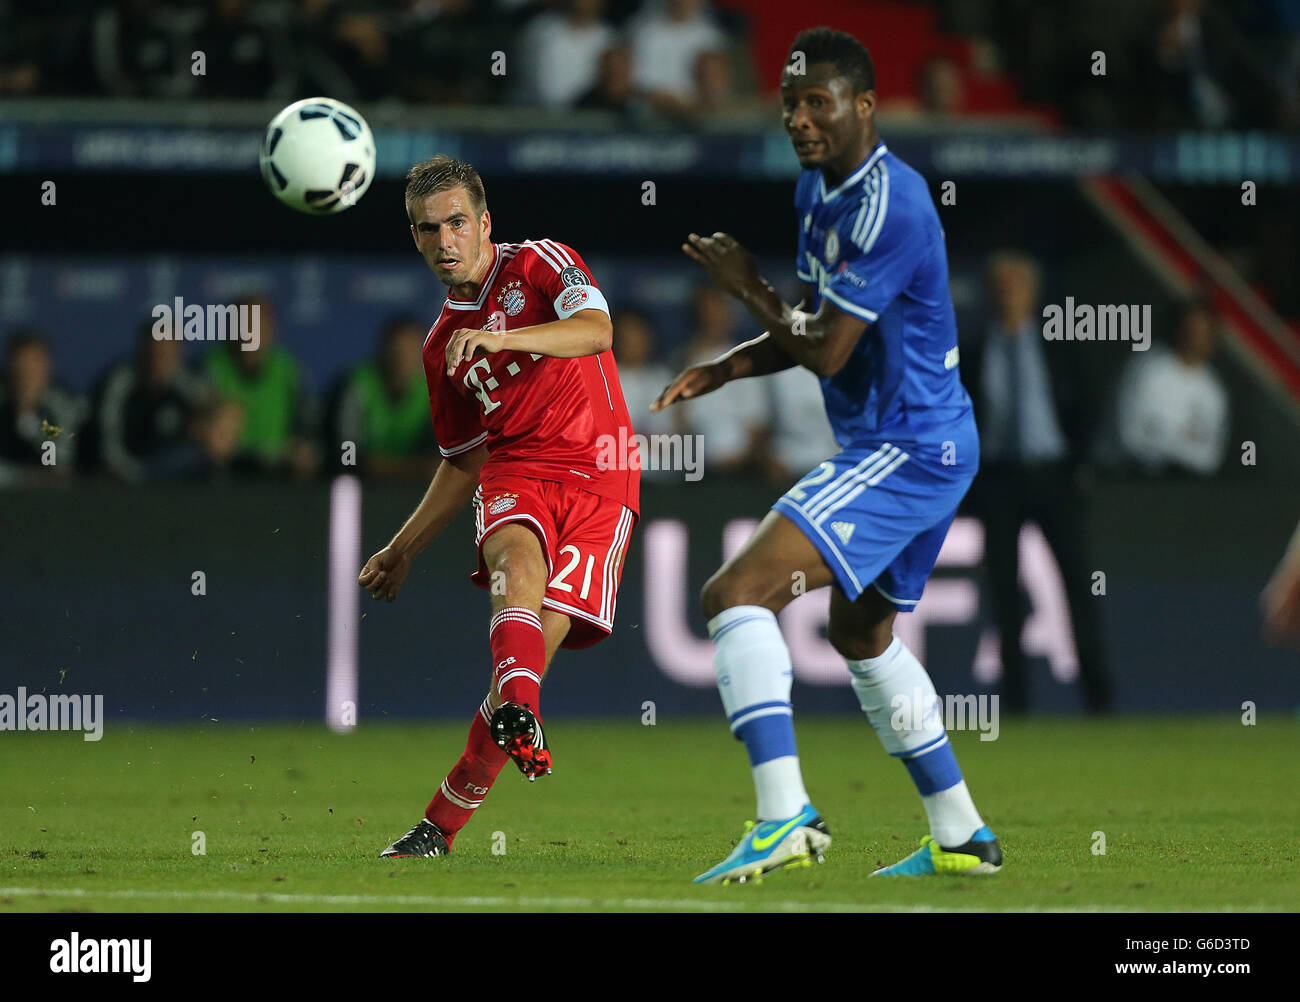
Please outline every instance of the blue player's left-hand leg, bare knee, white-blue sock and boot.
M831 843L800 771L790 706L793 668L776 612L796 594L833 580L822 555L784 515L771 511L754 535L705 585L714 672L732 734L745 742L758 823L697 884L744 881L820 856Z

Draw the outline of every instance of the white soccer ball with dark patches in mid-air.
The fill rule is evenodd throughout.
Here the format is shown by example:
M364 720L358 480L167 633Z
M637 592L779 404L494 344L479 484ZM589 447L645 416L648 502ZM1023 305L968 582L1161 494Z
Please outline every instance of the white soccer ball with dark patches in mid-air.
M370 186L374 136L354 108L333 97L307 97L270 120L260 160L277 199L324 216L355 205Z

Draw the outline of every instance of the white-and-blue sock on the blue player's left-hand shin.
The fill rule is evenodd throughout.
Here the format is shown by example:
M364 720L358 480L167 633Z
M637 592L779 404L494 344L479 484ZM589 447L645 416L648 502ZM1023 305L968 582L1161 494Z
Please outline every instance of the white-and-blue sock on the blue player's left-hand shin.
M809 795L794 746L790 652L776 616L760 606L736 606L708 621L708 636L723 711L749 751L758 820L793 817Z

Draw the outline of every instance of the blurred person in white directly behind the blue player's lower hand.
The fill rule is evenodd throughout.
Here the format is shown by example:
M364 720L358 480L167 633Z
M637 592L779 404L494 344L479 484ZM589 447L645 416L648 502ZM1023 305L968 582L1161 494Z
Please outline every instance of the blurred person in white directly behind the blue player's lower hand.
M725 292L714 285L698 286L693 311L694 331L682 368L712 361L736 343L731 300ZM659 390L666 385L667 381L660 383ZM680 409L688 431L703 435L706 472L740 473L766 468L767 400L758 379L727 383L697 400L682 402Z

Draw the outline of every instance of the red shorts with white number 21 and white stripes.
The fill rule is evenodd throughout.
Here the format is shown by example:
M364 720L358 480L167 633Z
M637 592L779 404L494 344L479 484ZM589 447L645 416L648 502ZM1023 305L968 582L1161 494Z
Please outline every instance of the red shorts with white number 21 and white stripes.
M614 604L623 559L637 516L630 508L572 483L530 477L493 477L474 491L474 543L478 569L471 576L489 586L484 539L508 522L536 533L550 578L542 608L569 617L562 647L590 647L614 630Z

